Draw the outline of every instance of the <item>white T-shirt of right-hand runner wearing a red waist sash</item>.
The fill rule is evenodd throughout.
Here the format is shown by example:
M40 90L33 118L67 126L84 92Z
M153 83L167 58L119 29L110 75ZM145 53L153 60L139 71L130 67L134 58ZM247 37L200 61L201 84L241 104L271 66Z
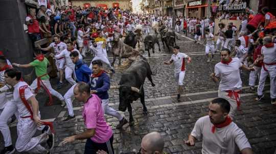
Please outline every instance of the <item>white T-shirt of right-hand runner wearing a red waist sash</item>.
M215 74L216 77L220 77L220 90L238 90L242 88L240 67L242 67L242 63L239 58L232 58L232 61L228 65L221 62L216 64Z

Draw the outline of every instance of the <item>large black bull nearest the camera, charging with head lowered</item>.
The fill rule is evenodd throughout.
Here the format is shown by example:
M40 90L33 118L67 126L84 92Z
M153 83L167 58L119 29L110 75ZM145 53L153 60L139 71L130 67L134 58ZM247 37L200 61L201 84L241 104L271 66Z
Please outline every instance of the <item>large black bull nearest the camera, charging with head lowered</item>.
M129 125L134 124L132 116L131 103L140 98L143 105L143 114L147 114L145 105L144 82L146 77L150 80L151 85L155 86L151 78L152 72L150 65L145 58L138 58L131 66L123 73L119 82L119 110L129 112ZM118 88L118 87L117 87Z

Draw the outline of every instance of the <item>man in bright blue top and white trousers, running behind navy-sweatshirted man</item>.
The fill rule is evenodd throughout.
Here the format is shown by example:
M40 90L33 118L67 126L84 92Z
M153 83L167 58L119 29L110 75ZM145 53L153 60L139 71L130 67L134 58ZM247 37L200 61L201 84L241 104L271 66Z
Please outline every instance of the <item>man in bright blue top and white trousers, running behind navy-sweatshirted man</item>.
M79 53L77 51L73 51L72 53L70 53L70 57L73 63L75 64L76 81L85 82L89 84L90 75L92 71L82 60L79 59ZM64 95L64 100L67 105L69 115L63 121L69 121L69 120L75 119L73 104L72 104L75 86L76 84L74 84Z

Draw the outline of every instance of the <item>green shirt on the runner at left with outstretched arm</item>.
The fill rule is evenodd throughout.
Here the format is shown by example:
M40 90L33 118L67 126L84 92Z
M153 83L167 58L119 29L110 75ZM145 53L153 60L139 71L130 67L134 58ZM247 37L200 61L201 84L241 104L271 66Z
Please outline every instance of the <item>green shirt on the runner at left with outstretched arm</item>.
M30 63L31 66L33 66L35 68L35 74L37 77L47 74L47 66L48 66L48 59L44 57L44 59L42 61L39 61L37 59L35 59L34 61L32 61ZM45 75L43 77L41 77L41 80L45 80L45 79L49 79L49 75Z

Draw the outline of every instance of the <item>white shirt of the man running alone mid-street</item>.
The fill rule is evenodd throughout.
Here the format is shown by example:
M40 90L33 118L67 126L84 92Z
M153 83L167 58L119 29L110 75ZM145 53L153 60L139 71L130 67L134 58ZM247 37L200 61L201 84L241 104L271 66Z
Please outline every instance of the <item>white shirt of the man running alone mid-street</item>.
M172 55L170 60L174 62L174 73L185 71L185 58L187 57L187 54L181 52Z

